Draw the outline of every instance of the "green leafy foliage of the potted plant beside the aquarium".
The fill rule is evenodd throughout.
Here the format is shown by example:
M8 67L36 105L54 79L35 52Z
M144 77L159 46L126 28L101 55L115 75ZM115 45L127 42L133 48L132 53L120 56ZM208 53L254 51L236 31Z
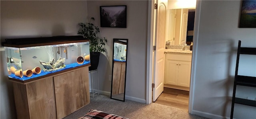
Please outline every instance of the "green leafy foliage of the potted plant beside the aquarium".
M105 45L107 39L105 37L98 37L100 29L98 26L95 26L91 21L94 21L92 17L89 23L78 23L81 29L78 31L79 35L83 35L84 38L90 40L90 52L106 52Z

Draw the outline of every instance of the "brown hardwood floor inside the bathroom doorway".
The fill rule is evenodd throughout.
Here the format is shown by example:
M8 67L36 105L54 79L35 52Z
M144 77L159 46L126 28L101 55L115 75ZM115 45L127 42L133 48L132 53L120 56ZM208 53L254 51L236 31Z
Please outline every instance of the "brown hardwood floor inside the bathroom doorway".
M164 87L164 91L154 103L188 110L188 97L188 91Z

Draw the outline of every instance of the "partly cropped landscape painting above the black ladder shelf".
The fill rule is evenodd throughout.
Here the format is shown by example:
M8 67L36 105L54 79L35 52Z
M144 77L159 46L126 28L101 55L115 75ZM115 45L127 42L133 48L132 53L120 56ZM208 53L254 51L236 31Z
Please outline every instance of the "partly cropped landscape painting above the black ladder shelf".
M256 0L243 0L240 28L256 28Z

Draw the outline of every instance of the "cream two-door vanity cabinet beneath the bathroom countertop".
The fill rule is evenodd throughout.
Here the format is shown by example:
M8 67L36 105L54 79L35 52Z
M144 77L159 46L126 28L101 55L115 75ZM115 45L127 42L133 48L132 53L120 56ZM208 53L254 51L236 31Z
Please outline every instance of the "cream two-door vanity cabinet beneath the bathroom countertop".
M166 54L165 87L189 90L192 55Z

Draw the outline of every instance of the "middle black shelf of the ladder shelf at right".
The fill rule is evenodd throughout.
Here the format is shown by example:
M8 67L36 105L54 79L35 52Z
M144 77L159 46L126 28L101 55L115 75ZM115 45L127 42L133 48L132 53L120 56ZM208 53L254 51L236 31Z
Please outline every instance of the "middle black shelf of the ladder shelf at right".
M237 85L256 87L256 77L237 75Z

